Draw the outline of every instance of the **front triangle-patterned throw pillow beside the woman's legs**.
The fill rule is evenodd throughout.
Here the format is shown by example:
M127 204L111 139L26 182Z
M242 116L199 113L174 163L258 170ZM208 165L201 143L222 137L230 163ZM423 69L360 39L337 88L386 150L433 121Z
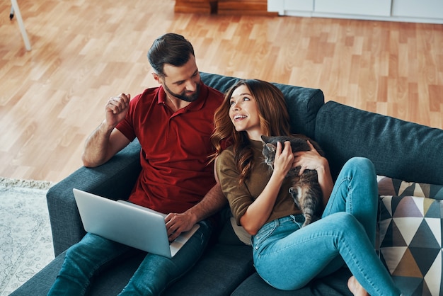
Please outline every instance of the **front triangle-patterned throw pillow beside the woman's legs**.
M407 295L443 295L442 200L381 195L380 258Z

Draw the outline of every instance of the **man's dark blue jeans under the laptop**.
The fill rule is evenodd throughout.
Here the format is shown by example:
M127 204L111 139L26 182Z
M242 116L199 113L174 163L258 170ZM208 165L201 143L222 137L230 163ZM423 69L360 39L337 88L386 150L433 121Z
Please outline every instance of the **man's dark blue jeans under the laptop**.
M160 295L170 283L192 268L205 250L212 232L209 221L199 224L197 232L172 259L147 253L120 295ZM117 264L131 254L139 253L130 246L88 233L68 249L48 295L85 295L97 271Z

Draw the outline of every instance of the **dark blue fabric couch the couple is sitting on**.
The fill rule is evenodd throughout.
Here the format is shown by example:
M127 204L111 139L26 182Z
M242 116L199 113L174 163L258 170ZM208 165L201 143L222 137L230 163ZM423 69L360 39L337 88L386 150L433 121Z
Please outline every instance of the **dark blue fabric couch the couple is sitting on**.
M235 77L217 74L201 73L201 76L207 85L222 92L236 81ZM347 159L364 156L374 162L379 178L393 184L387 187L397 189L391 195L391 200L398 201L394 195L399 193L399 184L403 184L403 188L404 184L443 184L443 130L369 113L333 101L325 103L323 92L319 89L276 85L287 100L292 132L312 137L323 147L333 178ZM139 143L134 140L108 163L94 169L81 167L50 188L47 206L56 257L12 295L46 295L59 272L66 249L84 236L72 188L113 200L127 198L139 170ZM440 192L433 196L443 199ZM384 208L391 209L389 206ZM226 212L229 215L229 211ZM387 221L385 216L384 221ZM301 290L282 291L270 287L255 273L251 246L239 241L229 220L225 221L214 233L205 254L192 270L173 283L163 295L350 295L346 285L350 276L347 268L326 278L317 278ZM442 224L438 224L438 227L441 229ZM380 239L384 241L384 247L389 245L388 238L392 234L386 229L384 227L384 237ZM391 237L391 242L395 241L395 235ZM440 237L440 248L441 241ZM100 271L93 279L90 295L116 295L122 290L142 259L143 254L136 253L118 266ZM426 253L422 251L422 254ZM441 252L439 256L441 278ZM389 252L381 255L387 265L391 260L388 257ZM432 271L438 271L435 265L432 268ZM399 285L411 282L408 275L398 277L395 270L390 271ZM417 276L420 278L421 275L411 278L416 279ZM418 288L404 288L403 285L403 293L425 295L429 292L431 283L427 283L423 277L418 280ZM432 284L435 290L435 280Z

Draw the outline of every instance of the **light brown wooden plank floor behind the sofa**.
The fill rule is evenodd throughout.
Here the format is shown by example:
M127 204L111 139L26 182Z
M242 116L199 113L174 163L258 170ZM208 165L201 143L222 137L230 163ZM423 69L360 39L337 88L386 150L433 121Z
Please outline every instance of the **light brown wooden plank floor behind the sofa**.
M156 86L146 52L176 32L200 71L322 89L326 101L443 126L443 25L174 13L173 0L19 1L0 11L0 176L60 181L120 92Z

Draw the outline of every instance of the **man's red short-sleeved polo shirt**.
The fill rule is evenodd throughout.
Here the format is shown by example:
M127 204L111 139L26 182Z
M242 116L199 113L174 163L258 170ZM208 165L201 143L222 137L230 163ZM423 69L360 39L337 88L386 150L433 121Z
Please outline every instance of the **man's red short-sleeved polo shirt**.
M125 120L117 125L142 145L142 172L129 200L163 213L184 212L215 184L209 137L223 94L201 83L197 100L176 113L165 101L162 86L146 89L130 101Z

